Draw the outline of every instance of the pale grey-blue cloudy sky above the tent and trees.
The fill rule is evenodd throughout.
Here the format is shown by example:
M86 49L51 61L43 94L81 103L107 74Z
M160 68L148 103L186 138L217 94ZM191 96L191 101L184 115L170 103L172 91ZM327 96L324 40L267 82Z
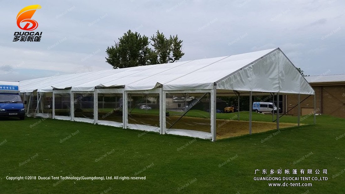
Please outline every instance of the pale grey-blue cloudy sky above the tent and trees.
M33 4L41 41L12 42L18 12ZM305 74L345 73L341 0L19 0L0 10L0 80L111 69L105 50L128 29L178 34L180 61L280 47Z

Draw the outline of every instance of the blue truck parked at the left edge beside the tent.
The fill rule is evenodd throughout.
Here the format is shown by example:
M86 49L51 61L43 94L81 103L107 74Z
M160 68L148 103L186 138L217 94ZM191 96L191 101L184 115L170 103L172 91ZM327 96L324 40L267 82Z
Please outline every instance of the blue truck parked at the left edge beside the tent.
M19 82L0 81L0 117L25 119L25 106L19 95Z

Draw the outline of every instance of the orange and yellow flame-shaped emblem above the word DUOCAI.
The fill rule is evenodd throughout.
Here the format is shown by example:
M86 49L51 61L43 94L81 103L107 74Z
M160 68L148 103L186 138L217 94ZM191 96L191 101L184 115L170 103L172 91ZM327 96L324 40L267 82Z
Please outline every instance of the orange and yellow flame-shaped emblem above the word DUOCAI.
M36 20L32 20L31 17L37 9L41 9L40 5L32 5L24 7L19 11L17 15L17 25L22 30L32 31L38 27ZM20 25L22 24L22 25Z

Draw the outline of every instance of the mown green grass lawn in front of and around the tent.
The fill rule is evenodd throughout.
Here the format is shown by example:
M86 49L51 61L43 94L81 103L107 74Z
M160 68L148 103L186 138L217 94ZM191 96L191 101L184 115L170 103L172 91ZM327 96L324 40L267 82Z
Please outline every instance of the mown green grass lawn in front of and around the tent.
M235 114L217 114L217 118L229 119ZM247 120L248 113L241 112L240 118ZM272 121L272 115L253 113L253 120ZM297 119L284 116L280 121ZM38 124L30 127L34 123ZM303 123L313 123L313 118ZM276 135L274 130L217 142L39 118L0 120L0 124L0 193L345 193L345 173L341 173L345 172L345 137L336 140L345 133L345 120L331 116L317 116L316 125L289 128ZM102 158L103 155L106 156ZM219 167L226 161L229 162ZM328 180L253 180L264 176L255 175L255 169L268 169L269 173L270 169L280 168L283 175L273 176L291 176L284 175L285 169L290 169L290 173L292 169L320 169L319 175L298 172L297 176L327 176ZM327 169L328 174L323 175L322 169ZM6 180L7 176L71 175L146 179L59 183ZM283 182L313 186L268 186Z

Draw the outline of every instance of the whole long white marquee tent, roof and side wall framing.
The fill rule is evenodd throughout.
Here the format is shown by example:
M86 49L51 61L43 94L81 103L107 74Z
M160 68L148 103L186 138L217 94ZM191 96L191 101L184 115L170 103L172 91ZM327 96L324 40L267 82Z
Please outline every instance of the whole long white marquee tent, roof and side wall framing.
M296 70L292 62L279 49L268 49L244 54L210 59L156 64L132 68L101 70L96 72L59 75L20 82L20 92L35 95L37 103L34 115L49 116L39 112L40 95L50 93L53 101L53 119L66 119L106 124L124 129L155 131L216 140L215 99L216 94L252 95L252 93L311 94L313 88ZM98 115L98 94L121 94L123 119L121 122L99 121L98 116L78 118L75 113L75 94L92 95L93 115ZM166 129L166 96L168 93L208 93L210 95L211 133ZM70 115L55 115L55 94L70 96ZM159 126L128 123L128 95L152 94L159 99ZM66 98L69 98L69 97ZM32 102L34 100L31 100ZM28 111L29 113L29 111ZM28 114L32 115L32 114ZM279 121L278 121L279 122ZM250 122L251 123L251 122ZM278 127L278 125L277 125ZM251 128L251 124L249 125ZM249 129L250 130L250 129Z

